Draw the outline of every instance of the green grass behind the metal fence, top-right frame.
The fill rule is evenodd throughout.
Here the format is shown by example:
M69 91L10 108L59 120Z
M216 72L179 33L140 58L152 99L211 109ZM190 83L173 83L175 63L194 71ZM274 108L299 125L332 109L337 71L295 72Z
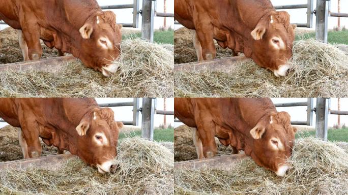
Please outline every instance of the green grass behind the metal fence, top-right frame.
M315 32L311 32L304 35L296 35L296 40L302 39L315 39ZM345 44L348 45L348 30L333 31L328 32L328 42L330 44Z

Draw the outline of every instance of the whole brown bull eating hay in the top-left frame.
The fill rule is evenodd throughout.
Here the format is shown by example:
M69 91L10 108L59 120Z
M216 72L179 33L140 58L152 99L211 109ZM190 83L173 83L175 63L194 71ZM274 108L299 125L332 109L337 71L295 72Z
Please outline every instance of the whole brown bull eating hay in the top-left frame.
M104 76L117 69L112 61L121 52L121 26L96 0L0 0L0 19L20 30L25 60L40 59L42 39L60 55L71 53Z

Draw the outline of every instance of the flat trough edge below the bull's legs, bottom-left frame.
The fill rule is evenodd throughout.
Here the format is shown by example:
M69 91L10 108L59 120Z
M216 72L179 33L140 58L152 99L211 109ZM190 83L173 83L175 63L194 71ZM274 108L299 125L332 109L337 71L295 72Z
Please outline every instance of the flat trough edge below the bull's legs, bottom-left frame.
M0 170L2 169L25 169L28 167L44 168L48 170L55 170L59 168L68 159L78 158L72 154L59 154L52 156L44 156L39 158L30 158L23 160L6 161L0 163Z

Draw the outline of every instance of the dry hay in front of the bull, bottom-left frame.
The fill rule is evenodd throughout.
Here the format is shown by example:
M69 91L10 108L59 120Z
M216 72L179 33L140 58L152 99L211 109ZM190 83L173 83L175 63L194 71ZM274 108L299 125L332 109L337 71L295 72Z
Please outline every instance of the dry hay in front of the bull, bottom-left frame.
M118 147L119 169L101 175L81 160L60 169L1 170L2 194L173 194L173 154L140 138L124 139Z

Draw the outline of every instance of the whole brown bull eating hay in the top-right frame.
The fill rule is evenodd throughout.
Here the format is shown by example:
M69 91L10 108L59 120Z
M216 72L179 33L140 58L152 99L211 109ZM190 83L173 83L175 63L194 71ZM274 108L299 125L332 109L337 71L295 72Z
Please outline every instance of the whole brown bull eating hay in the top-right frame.
M296 25L287 12L277 12L269 0L176 0L175 19L194 29L198 60L215 58L213 40L242 52L260 67L286 76L293 55Z

